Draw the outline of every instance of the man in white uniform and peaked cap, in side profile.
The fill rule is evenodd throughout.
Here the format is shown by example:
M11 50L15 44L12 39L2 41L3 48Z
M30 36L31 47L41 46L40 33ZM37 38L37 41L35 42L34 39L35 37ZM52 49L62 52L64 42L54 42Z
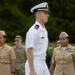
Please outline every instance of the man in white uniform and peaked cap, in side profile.
M50 75L45 62L48 35L44 24L50 13L48 4L43 2L34 6L31 13L34 13L36 22L26 34L25 75Z

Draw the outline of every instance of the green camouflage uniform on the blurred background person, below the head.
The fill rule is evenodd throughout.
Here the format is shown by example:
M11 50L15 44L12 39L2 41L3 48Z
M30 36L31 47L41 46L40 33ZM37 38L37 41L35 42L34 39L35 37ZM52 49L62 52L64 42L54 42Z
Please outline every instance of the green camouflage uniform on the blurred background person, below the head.
M26 54L25 54L25 47L23 45L14 46L13 47L16 54L16 68L15 68L15 75L25 75L25 61L26 61Z

